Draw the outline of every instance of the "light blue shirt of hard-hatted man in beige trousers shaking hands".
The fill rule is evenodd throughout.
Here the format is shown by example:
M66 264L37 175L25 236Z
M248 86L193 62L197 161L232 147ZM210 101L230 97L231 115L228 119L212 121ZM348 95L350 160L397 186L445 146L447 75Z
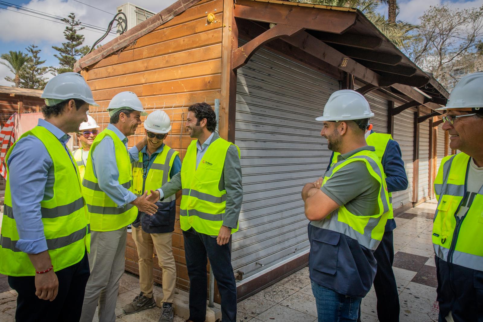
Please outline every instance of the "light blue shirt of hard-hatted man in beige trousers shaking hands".
M128 138L113 124L109 124L107 128L113 131L124 143L131 162L138 161L139 151L137 147L133 146L128 149ZM114 141L110 136L104 137L92 153L92 170L99 182L99 188L114 201L118 208L133 202L137 198L134 193L119 184Z

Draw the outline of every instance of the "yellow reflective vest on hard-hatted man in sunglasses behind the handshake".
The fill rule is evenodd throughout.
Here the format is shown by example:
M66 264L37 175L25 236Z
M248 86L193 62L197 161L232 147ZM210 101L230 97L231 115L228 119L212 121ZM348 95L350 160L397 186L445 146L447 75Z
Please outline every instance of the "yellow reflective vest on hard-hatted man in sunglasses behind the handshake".
M179 154L178 151L170 148L169 146L164 146L161 153L156 155L149 172L147 173L146 179L143 178L143 159L144 153L139 152L139 160L132 165L132 181L134 187L134 193L137 196L142 195L144 191L151 194L151 190L156 190L160 188L163 184L170 181L170 171L174 162L174 158ZM149 160L149 159L148 159ZM144 191L142 191L144 183ZM163 203L169 203L176 199L176 195L173 194L168 198L163 200Z

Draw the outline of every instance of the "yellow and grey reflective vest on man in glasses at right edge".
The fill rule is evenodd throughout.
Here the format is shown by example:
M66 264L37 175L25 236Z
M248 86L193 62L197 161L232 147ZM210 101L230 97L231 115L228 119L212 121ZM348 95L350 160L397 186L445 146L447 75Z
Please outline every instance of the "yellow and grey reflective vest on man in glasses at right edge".
M470 157L462 152L441 161L434 180L438 206L432 240L436 256L443 261L483 271L483 186L465 198L469 162ZM465 199L469 209L458 218Z

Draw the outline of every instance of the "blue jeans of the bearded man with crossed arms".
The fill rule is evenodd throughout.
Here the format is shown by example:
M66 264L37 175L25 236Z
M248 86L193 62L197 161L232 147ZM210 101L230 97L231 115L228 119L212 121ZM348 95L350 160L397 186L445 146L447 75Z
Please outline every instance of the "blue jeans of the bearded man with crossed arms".
M318 322L356 322L362 298L346 296L312 283Z

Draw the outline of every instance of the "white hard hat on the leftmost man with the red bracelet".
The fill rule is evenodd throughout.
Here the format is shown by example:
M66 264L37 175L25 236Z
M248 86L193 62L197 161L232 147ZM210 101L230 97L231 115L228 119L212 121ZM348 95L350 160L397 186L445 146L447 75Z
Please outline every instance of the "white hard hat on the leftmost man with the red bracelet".
M99 106L94 102L89 85L87 85L84 77L79 73L61 73L53 77L45 85L41 98L45 99L45 104L47 105L78 99L89 105Z

